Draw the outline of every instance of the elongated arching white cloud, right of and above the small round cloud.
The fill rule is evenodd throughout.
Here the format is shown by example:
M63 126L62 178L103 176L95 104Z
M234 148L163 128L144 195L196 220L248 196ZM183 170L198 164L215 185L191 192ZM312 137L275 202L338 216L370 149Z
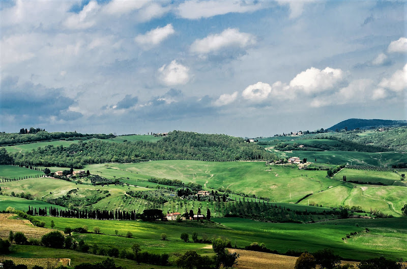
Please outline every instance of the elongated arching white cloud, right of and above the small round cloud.
M255 37L250 33L240 32L239 29L235 28L228 28L219 34L195 40L190 50L195 53L204 54L226 47L246 48L255 43Z

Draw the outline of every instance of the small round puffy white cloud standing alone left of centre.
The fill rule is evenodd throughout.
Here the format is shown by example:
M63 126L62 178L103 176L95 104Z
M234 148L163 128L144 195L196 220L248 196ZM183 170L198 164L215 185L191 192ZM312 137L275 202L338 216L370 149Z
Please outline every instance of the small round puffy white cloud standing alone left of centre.
M189 68L171 61L168 65L164 64L158 69L160 80L167 86L186 84L189 81Z

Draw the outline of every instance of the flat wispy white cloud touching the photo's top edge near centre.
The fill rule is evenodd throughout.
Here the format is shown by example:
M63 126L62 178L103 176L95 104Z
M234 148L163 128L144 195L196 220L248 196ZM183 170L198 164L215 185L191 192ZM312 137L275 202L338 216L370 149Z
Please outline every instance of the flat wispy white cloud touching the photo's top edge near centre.
M176 12L178 16L185 19L200 19L230 12L252 12L261 9L262 7L262 3L257 1L191 0L180 4Z

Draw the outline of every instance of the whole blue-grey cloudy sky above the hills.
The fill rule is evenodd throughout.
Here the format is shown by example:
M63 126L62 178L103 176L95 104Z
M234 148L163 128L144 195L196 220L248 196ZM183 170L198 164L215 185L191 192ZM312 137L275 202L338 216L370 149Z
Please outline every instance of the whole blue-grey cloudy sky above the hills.
M406 120L407 2L0 0L0 131Z

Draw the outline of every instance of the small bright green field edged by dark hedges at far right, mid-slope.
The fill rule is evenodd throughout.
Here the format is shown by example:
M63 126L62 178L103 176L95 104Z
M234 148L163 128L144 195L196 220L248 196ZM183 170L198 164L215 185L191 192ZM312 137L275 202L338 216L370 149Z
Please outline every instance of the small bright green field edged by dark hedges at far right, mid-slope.
M372 171L372 170L356 170L356 169L342 169L334 176L334 179L342 180L346 176L346 181L359 181L369 184L383 183L385 185L405 186L407 183L401 181L401 176L404 172L394 173L390 171Z

